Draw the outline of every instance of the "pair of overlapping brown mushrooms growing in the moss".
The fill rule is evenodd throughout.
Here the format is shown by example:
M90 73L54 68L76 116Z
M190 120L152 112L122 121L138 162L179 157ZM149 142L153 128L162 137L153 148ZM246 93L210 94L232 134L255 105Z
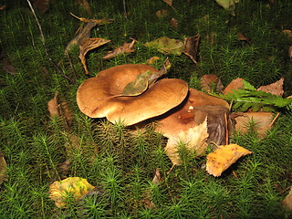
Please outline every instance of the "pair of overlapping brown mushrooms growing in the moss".
M199 125L205 124L207 133L194 144L200 146L207 141L225 143L228 103L224 99L189 89L182 79L162 78L140 95L120 96L131 81L146 71L158 72L149 65L136 64L100 71L96 78L89 78L79 86L79 109L90 118L106 117L113 123L120 120L127 126L154 118L158 123L157 130L169 138L169 142L183 141L180 136L193 138L193 132L182 133L195 127L195 130L200 130ZM194 147L195 150L198 145ZM203 152L200 151L201 154Z

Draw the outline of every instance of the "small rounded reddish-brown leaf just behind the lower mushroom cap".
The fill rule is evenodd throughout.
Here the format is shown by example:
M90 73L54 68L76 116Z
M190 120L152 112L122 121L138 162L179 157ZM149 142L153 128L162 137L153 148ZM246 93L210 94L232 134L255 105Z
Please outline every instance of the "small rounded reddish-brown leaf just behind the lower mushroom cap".
M221 93L224 89L220 78L216 75L203 75L200 78L200 82L202 89L206 92L217 91Z

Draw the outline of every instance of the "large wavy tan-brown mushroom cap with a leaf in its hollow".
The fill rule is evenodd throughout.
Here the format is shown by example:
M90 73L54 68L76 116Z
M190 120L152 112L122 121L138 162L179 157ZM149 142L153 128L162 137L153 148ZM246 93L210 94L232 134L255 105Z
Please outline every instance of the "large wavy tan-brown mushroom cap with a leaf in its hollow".
M79 109L91 118L106 117L111 122L121 120L125 125L132 125L162 115L183 102L188 85L174 78L159 80L139 96L110 98L121 94L128 83L147 70L158 71L135 64L100 71L96 78L89 78L79 86Z

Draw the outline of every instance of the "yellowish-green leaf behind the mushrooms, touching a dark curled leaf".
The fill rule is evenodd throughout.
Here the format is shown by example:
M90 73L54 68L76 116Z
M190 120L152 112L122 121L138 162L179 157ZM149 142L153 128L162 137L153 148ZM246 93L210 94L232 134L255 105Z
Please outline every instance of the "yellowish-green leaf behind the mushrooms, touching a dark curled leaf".
M158 39L152 40L144 44L145 47L156 48L164 55L181 55L183 51L183 42L179 39L172 39L166 36L162 36Z

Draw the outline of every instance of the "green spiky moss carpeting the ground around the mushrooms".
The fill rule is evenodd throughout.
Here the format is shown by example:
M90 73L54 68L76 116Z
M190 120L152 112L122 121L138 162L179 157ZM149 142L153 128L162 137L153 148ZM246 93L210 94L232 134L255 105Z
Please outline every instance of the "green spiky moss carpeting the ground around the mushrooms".
M8 181L0 185L0 214L4 218L289 218L281 206L291 185L291 112L283 111L275 127L259 140L252 127L235 142L254 153L236 162L221 177L202 168L205 157L197 158L181 145L183 165L170 174L172 162L163 148L166 140L152 126L131 130L122 123L89 119L76 103L76 90L86 78L100 70L125 63L146 63L161 68L165 56L143 44L161 36L183 40L200 34L198 66L189 57L168 55L172 62L169 78L182 78L200 89L199 78L215 74L227 85L245 78L258 87L286 78L286 96L291 95L292 62L287 55L291 39L282 33L291 29L289 0L241 1L230 16L213 0L89 1L92 15L73 1L55 1L46 14L36 15L42 26L48 60L36 20L26 1L0 0L0 47L16 74L0 64L0 151L8 164ZM169 14L159 18L157 10ZM70 16L113 18L112 24L96 27L92 37L111 42L87 55L90 76L78 58L78 47L64 51L81 23ZM171 18L177 27L170 23ZM237 32L248 41L237 39ZM138 40L136 51L109 60L102 57L113 47ZM50 118L47 101L55 92L73 112L70 130L59 118ZM60 163L68 161L68 170ZM151 183L156 169L162 183ZM232 171L235 171L233 174ZM50 183L62 177L79 176L97 186L67 209L57 209L48 198ZM152 203L151 203L152 202ZM147 204L155 207L148 208Z

